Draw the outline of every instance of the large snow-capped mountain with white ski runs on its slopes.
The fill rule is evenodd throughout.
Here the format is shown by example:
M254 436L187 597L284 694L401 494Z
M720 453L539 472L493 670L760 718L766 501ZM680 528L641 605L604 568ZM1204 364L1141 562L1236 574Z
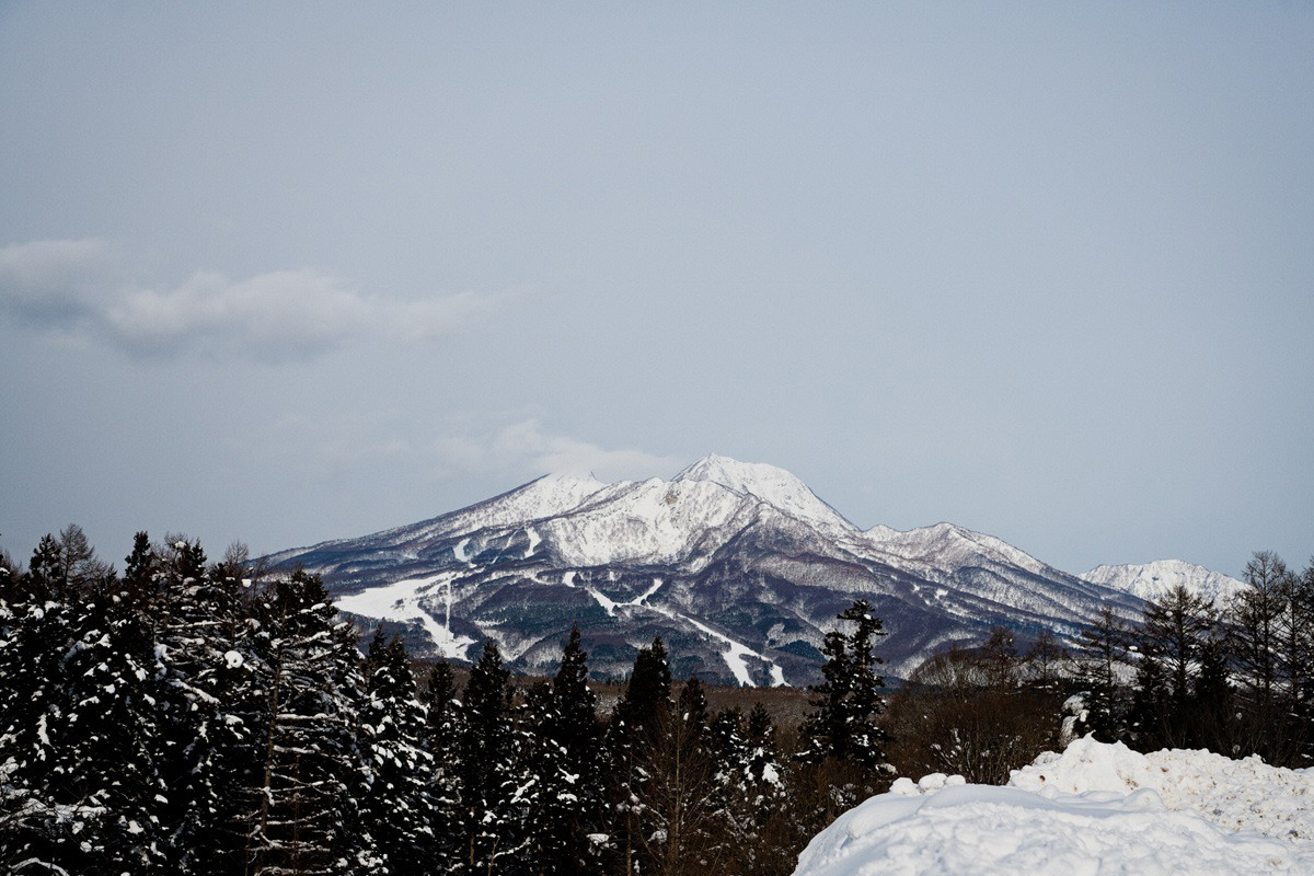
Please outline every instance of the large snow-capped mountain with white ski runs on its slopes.
M677 675L816 680L834 616L869 599L901 678L993 625L1075 633L1142 602L951 524L859 529L799 478L708 456L669 481L547 475L422 523L268 558L325 577L343 611L402 624L417 653L465 658L485 637L545 671L572 621L599 675L623 675L661 634Z

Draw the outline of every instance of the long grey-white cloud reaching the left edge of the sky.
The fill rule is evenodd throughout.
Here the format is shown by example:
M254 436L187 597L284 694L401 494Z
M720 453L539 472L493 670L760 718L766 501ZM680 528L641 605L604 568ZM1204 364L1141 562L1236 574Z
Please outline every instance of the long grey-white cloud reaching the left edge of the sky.
M133 356L247 353L309 359L365 341L432 343L491 314L506 296L426 301L365 294L302 268L247 280L197 272L172 288L116 278L102 240L38 240L0 248L0 313L25 324L117 347Z

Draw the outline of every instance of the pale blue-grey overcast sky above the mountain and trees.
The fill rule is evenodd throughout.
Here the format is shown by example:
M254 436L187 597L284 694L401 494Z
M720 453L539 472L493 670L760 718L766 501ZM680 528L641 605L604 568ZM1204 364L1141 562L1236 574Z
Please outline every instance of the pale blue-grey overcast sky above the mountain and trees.
M1070 571L1303 565L1311 46L1309 3L3 3L0 548L716 452Z

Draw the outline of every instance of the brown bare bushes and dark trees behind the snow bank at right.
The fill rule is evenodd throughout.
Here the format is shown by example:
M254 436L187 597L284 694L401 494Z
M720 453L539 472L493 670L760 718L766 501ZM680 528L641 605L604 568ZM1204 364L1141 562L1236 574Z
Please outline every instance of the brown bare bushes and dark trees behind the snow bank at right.
M1176 587L1148 602L1139 624L1105 609L1072 647L1041 630L1020 653L1014 632L996 628L976 646L934 654L891 697L891 760L913 777L1001 784L1042 751L1093 733L1139 751L1310 766L1314 562L1296 571L1256 553L1244 580L1219 605Z

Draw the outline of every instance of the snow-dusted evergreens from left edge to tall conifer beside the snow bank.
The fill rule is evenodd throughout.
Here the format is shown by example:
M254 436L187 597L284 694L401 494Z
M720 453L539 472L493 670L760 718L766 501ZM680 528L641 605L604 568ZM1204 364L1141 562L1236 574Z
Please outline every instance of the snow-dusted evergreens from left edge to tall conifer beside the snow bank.
M838 620L798 728L714 712L661 638L600 714L578 629L551 679L489 640L461 687L363 654L318 577L145 532L120 574L70 525L0 557L0 869L790 873L891 777L882 625Z

